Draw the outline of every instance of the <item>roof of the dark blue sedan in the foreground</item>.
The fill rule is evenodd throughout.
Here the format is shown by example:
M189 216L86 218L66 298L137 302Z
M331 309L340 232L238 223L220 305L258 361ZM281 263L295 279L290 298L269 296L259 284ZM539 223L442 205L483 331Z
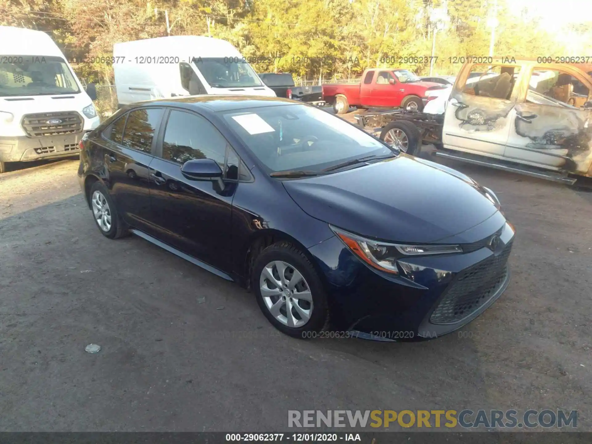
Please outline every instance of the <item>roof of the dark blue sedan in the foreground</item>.
M181 106L182 108L188 109L206 108L207 110L214 112L247 110L249 108L274 107L277 105L302 104L301 102L285 99L282 97L266 97L255 95L195 95L189 97L147 100L140 103L143 105L163 104Z

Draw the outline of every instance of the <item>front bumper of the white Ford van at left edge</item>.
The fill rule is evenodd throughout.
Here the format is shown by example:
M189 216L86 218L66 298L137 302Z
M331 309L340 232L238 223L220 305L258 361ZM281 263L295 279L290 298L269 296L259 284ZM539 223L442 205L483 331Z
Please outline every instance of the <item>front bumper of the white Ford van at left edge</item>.
M88 131L50 137L0 137L0 161L27 162L75 156L80 153L78 144L85 132Z

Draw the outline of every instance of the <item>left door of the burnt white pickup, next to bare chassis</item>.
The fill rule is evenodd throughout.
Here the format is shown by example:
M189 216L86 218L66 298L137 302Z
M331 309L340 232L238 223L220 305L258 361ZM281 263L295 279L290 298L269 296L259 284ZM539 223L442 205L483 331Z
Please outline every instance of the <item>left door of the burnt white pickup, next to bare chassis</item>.
M448 149L503 158L514 125L519 65L472 65L456 82L445 111ZM477 74L477 76L474 76Z

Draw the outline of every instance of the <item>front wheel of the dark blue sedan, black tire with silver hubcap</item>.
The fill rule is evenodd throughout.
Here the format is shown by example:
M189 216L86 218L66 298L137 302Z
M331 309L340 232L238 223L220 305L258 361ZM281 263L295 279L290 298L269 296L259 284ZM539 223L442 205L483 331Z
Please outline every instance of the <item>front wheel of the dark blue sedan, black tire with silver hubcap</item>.
M278 265L285 266L282 282L278 281L280 278ZM295 282L295 287L294 283L290 282L290 279L295 275L294 271L298 272L302 278ZM274 282L277 285L274 285ZM310 260L291 243L275 243L259 254L253 263L251 285L259 308L280 332L303 339L314 337L312 333L327 329L329 308L323 282ZM282 286L285 288L284 291L279 290ZM306 298L295 296L305 295L307 289L308 296ZM264 294L265 290L267 291ZM288 306L292 307L290 319L287 316ZM304 316L301 313L304 313ZM307 313L310 317L305 320Z

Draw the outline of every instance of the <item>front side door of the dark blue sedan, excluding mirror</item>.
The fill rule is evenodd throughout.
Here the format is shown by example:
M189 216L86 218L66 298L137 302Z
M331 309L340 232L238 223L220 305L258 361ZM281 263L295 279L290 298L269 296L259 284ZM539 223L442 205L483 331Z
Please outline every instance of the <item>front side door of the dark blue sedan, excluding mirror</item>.
M228 158L237 157L220 131L195 112L170 108L156 158L150 163L150 200L157 236L163 242L221 270L230 258L230 216L237 181ZM186 178L181 166L213 159L226 169L223 181ZM230 166L229 166L230 165ZM236 175L236 166L234 175Z

